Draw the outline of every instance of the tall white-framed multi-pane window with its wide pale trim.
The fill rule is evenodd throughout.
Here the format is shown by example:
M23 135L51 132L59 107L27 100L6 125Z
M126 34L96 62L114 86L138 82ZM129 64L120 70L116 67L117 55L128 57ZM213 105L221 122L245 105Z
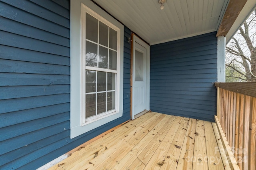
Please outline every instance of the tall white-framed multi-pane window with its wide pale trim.
M70 137L122 116L124 26L90 0L70 2Z

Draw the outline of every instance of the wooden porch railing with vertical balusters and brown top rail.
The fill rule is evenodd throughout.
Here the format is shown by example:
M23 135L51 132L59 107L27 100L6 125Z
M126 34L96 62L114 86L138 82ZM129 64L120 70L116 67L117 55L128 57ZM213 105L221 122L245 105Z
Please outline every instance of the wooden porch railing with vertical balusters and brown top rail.
M256 170L256 82L215 86L216 123L222 127L240 170Z

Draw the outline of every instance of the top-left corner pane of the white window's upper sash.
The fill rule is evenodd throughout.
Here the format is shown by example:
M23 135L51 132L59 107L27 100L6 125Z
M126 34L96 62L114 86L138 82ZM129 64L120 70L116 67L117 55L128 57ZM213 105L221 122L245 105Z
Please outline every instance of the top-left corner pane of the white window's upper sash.
M86 39L98 43L98 20L86 13Z

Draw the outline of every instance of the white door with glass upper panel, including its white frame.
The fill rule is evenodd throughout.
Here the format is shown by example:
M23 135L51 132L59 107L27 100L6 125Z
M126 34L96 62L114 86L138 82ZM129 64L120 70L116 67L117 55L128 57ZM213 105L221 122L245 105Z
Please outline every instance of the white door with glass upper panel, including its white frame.
M147 82L149 82L149 46L138 38L134 38L132 59L132 119L134 115L149 110L149 96L147 95ZM139 41L140 40L140 41ZM148 51L147 51L148 50ZM149 88L149 87L148 87ZM148 98L148 100L147 100ZM148 102L148 104L147 104Z

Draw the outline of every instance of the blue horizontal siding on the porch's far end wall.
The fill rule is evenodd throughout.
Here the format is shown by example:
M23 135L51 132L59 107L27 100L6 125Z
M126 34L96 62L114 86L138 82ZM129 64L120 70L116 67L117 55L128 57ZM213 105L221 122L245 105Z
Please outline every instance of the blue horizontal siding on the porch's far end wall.
M207 33L150 47L150 109L214 121L217 38Z

